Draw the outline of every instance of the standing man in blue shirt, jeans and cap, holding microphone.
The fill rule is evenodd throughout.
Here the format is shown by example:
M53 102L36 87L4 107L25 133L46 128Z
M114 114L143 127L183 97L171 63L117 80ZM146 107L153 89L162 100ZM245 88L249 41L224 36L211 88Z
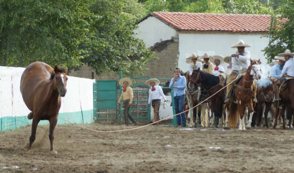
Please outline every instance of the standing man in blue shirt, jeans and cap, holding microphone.
M169 87L173 87L173 98L175 102L176 114L182 112L176 116L177 126L186 127L186 117L184 113L184 101L185 101L185 88L186 88L186 77L181 76L181 69L176 67L174 70L175 76L171 79Z

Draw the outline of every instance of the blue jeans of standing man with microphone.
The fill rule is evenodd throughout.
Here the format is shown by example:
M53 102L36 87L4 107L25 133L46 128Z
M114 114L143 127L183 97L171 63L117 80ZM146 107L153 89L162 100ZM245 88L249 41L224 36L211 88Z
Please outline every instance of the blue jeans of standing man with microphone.
M176 114L183 112L176 116L178 125L186 126L186 117L184 113L185 95L173 97L175 101ZM181 121L182 120L182 121Z

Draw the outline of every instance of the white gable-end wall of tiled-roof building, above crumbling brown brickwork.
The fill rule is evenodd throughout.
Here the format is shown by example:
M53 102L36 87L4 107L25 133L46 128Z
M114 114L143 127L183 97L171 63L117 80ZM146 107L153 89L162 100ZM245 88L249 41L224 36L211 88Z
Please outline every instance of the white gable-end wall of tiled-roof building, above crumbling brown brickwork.
M142 39L146 47L153 46L154 43L162 40L169 40L171 36L176 36L176 30L163 23L156 17L148 17L138 24L134 30L135 37Z

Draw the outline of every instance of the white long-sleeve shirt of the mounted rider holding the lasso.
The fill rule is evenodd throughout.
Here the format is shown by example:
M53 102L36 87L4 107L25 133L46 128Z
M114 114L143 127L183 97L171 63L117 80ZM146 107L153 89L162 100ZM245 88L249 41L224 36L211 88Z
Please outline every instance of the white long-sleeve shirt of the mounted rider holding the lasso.
M232 57L233 70L246 70L250 66L250 52L244 50L243 54L240 54L238 51L235 54L239 54L239 57Z

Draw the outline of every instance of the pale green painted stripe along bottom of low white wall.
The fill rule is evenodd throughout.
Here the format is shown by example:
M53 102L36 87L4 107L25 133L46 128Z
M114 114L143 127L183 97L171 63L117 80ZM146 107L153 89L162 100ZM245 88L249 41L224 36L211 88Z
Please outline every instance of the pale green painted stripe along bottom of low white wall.
M57 124L90 124L94 122L93 109L79 112L64 112L59 113ZM64 119L64 120L63 120ZM1 131L14 130L23 126L31 125L32 120L28 116L21 117L1 117ZM41 120L39 125L49 124L48 120Z

